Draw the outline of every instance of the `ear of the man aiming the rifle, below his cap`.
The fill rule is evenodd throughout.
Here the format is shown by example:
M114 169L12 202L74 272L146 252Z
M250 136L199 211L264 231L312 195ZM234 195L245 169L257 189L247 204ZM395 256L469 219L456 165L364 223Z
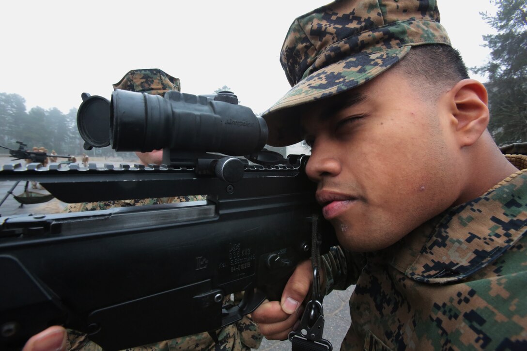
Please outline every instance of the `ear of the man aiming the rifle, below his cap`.
M460 147L475 143L489 124L487 91L473 79L457 82L446 93L449 113L453 117L456 140Z

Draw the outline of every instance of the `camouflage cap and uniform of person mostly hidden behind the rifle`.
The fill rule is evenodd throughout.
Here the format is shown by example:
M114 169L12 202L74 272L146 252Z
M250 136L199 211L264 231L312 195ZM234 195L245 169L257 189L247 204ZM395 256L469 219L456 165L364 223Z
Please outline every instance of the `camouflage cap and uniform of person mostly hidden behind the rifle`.
M114 89L129 90L156 95L164 95L169 90L181 91L180 80L158 69L132 70L128 72L120 81L113 85ZM198 196L179 196L168 198L151 199L130 199L103 202L74 203L66 206L66 212L105 210L115 207L144 206L162 203L187 202L205 200L206 197ZM234 294L234 304L238 304L243 298L243 292ZM224 304L231 303L227 296ZM199 311L196 311L199 313ZM67 330L67 349L82 351L101 351L102 348L91 342L83 333L75 330ZM252 321L250 316L244 316L241 320L216 330L219 342L214 342L209 333L189 335L172 340L165 340L150 345L134 347L127 350L134 351L169 351L169 350L233 350L245 351L251 348L257 349L260 346L262 335L259 333L258 326Z

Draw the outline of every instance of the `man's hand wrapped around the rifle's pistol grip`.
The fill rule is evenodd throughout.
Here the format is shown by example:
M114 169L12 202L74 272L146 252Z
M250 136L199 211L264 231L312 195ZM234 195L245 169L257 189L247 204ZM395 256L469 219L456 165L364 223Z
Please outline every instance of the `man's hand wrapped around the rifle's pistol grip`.
M281 301L267 301L251 313L258 323L260 333L269 340L285 340L293 329L298 327L306 298L313 280L313 269L310 261L297 266L287 281ZM25 351L25 350L24 350Z

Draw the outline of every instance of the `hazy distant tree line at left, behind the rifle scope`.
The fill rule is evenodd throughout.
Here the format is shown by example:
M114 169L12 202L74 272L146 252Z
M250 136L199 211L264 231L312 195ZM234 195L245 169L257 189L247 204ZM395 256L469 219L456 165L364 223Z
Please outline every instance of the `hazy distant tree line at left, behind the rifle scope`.
M26 111L26 101L18 94L0 93L0 145L18 149L16 141L27 144L28 149L44 147L57 154L89 156L115 156L110 147L85 151L84 141L77 130L77 109L64 114L57 108L40 107ZM0 149L0 154L8 151ZM130 155L129 155L130 154ZM120 153L132 157L132 153Z

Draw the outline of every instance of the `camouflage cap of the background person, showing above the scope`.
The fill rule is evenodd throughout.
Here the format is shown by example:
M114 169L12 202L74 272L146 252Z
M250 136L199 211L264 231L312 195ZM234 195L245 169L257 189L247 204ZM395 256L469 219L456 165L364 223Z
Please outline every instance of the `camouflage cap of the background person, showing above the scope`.
M163 96L169 90L181 91L179 78L159 69L132 70L124 75L113 89Z

